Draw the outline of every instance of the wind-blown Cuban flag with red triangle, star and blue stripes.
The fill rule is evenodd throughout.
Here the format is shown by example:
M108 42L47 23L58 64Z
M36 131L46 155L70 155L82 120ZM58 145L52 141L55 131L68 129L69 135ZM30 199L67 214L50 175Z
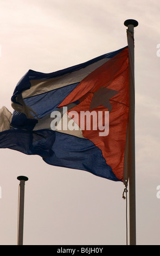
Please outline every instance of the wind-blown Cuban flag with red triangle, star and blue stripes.
M128 47L67 69L29 70L0 109L0 148L53 166L123 181L129 113Z

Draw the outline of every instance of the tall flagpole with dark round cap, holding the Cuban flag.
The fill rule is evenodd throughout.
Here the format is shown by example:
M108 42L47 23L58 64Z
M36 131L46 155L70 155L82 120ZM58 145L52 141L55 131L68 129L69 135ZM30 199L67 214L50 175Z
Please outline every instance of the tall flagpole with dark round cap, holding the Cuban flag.
M130 245L136 245L136 178L135 178L135 44L136 20L126 20L129 47L129 216Z

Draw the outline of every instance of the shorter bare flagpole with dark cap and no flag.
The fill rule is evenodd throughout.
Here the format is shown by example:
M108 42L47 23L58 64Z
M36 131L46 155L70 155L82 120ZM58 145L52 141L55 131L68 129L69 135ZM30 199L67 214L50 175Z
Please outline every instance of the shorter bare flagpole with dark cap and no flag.
M18 241L17 245L23 245L23 220L24 220L24 184L28 180L26 176L18 176L20 180L20 197L18 198Z

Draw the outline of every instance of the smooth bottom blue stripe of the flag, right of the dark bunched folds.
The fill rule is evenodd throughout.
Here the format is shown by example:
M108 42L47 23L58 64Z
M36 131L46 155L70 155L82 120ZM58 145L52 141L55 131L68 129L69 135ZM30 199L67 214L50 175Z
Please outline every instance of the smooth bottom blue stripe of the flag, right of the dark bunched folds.
M114 181L119 181L106 164L101 150L89 141L61 132L55 132L55 142L52 146L54 154L43 160L54 166L86 170L94 175Z

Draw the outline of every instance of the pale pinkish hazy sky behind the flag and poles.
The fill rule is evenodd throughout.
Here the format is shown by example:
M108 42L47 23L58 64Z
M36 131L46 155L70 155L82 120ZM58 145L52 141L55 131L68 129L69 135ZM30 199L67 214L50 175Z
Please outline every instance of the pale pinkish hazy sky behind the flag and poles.
M157 0L1 0L1 106L29 69L53 72L127 45L135 19L137 245L160 245ZM1 149L0 245L17 244L18 185L25 182L24 245L125 245L124 185L40 156Z

